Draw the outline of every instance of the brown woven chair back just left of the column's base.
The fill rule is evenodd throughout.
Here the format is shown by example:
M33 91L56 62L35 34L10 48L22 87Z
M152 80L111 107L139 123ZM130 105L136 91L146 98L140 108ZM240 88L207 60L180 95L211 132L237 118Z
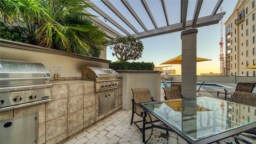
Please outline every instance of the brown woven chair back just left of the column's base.
M172 86L172 87L164 87L164 100L174 100L174 99L180 99L182 98L181 94L180 94L180 90L178 87L176 86Z

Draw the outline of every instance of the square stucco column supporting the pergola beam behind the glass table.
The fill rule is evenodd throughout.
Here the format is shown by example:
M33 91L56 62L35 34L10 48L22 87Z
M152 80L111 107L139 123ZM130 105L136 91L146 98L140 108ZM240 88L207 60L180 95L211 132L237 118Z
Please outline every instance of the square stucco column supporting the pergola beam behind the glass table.
M182 39L182 96L196 97L196 34L197 29L181 32Z

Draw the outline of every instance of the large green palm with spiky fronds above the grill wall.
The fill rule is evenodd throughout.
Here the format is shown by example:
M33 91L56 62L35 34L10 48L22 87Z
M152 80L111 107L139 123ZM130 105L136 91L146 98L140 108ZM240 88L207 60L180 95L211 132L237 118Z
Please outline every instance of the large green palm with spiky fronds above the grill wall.
M84 0L0 0L0 16L10 26L19 26L31 44L90 56L100 49L105 33L92 23Z

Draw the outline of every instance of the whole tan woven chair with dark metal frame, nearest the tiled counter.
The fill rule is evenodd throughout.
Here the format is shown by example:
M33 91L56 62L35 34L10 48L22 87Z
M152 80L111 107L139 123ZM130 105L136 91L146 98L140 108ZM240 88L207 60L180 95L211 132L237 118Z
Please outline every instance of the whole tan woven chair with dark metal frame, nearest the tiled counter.
M131 119L131 125L132 123L134 123L138 129L140 130L140 132L142 132L143 135L143 142L146 143L148 142L148 140L150 139L152 132L153 132L153 128L161 128L166 130L166 134L168 135L168 130L166 129L167 126L165 126L162 122L160 122L160 120L158 120L156 117L154 117L153 115L151 115L149 112L147 112L146 110L143 110L142 107L140 106L139 103L144 103L144 102L154 102L155 100L153 99L153 97L151 97L150 95L150 89L149 88L132 88L132 93L133 93L133 98L132 98L132 119ZM134 113L136 113L138 116L142 117L143 120L138 120L138 121L133 121L134 118ZM156 123L157 124L154 124ZM143 123L142 128L139 126L139 124L137 123ZM148 126L148 124L151 126ZM146 127L147 125L147 127ZM165 128L162 128L165 127ZM150 137L145 140L145 130L151 129L151 135Z

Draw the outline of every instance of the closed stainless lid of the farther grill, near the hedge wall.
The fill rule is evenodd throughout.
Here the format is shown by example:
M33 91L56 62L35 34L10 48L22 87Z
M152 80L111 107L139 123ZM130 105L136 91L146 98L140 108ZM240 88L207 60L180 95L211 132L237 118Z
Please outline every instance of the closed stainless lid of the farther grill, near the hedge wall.
M119 77L120 75L111 68L82 67L82 80L113 80Z

